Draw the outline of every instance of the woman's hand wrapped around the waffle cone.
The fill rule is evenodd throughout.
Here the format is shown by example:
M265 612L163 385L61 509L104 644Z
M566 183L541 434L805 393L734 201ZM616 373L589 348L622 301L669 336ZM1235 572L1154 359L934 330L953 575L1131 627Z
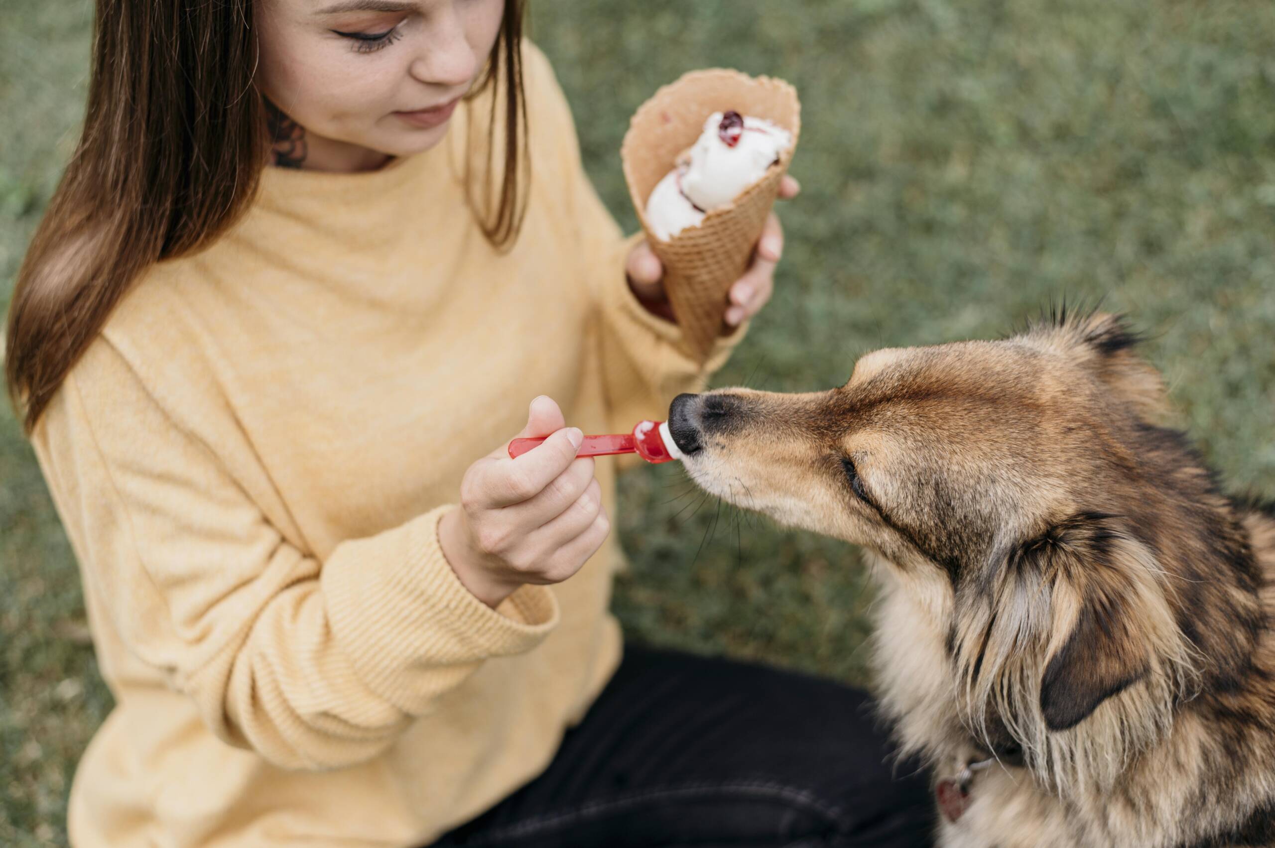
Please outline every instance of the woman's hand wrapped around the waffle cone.
M801 191L801 185L793 177L784 175L779 182L779 198L789 200ZM779 217L770 213L766 226L757 240L757 250L752 256L752 264L731 286L729 303L727 305L725 323L736 326L745 319L752 318L770 300L770 293L775 284L775 264L784 250L784 231L779 226ZM646 311L659 315L666 320L673 318L673 307L668 302L664 292L664 267L659 258L652 251L645 241L632 249L629 261L625 263L625 273L629 277L629 287Z

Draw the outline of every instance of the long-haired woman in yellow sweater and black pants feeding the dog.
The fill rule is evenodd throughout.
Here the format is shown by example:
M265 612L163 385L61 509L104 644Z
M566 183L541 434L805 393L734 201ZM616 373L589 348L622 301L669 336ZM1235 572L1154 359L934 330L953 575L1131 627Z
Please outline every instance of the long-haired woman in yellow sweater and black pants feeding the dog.
M683 351L521 17L98 4L83 138L6 356L117 703L73 844L924 828L859 694L620 662L615 465L575 457L580 430L663 417L743 328ZM765 303L779 249L773 221L728 324ZM510 460L532 397L518 435L550 439Z

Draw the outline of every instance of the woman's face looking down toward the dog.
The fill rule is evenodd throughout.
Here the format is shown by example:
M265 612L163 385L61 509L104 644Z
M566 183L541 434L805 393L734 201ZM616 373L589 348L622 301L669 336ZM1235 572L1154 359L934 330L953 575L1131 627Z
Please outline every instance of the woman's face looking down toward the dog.
M255 0L258 85L297 162L357 171L437 144L483 70L504 0Z

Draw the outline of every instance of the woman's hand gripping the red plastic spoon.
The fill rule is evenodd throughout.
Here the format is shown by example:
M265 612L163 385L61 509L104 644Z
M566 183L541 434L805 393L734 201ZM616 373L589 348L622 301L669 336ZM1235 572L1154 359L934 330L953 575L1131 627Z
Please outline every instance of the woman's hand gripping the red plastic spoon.
M576 458L583 434L565 427L544 395L532 400L519 436L548 436L518 459L506 448L460 481L460 508L439 522L439 543L474 597L496 607L524 583L561 583L611 530L593 458Z

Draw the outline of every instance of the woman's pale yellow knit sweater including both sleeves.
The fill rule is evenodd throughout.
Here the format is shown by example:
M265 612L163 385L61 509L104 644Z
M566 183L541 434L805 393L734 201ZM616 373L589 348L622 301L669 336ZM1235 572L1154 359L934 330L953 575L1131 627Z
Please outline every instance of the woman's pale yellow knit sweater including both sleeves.
M117 701L73 784L78 848L418 845L537 775L613 672L613 539L491 610L439 518L537 394L626 431L743 333L701 366L638 303L533 47L525 80L511 252L465 208L464 107L380 171L268 168L228 235L139 281L41 420Z

